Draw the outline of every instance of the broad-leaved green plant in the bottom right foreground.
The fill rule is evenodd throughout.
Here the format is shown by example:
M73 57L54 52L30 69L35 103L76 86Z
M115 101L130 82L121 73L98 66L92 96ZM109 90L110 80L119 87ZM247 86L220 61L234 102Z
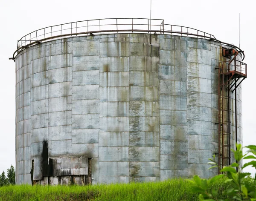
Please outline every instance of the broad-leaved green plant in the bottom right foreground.
M249 148L247 153L243 155L242 152L242 146L241 144L236 145L236 150L232 149L232 152L234 153L234 157L237 161L237 163L233 163L228 167L223 167L220 171L224 174L222 175L216 175L213 178L210 179L202 179L199 176L195 175L192 180L188 180L194 184L193 187L191 187L192 192L199 193L199 200L200 201L228 201L231 198L238 201L243 200L250 200L250 201L256 201L256 189L255 189L255 182L253 184L250 183L251 178L246 178L247 176L250 176L250 173L248 172L242 172L242 169L245 167L252 165L256 168L256 161L250 161L249 163L244 164L242 167L239 167L239 164L241 160L243 159L256 159L256 146L250 145L246 146ZM248 154L251 155L248 155ZM209 159L211 162L208 164L212 164L213 166L210 167L218 167L218 164L215 162L215 155L213 156L213 159ZM236 169L238 171L236 172ZM224 190L222 192L222 196L224 195L226 198L221 199L220 197L220 189L212 189L211 192L209 192L209 186L217 181L220 178L225 178L225 183L230 183L231 187L227 190ZM247 180L247 182L245 182ZM249 181L249 182L248 182Z

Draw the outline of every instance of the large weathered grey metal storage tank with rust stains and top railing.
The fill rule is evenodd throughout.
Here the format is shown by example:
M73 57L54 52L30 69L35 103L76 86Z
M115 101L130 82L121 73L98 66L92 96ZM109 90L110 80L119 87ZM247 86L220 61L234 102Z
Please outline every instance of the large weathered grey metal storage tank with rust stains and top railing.
M212 155L221 166L235 161L243 77L229 72L244 66L243 52L163 20L107 19L115 29L104 20L40 29L18 42L16 184L209 178L218 174L207 170ZM122 28L122 20L130 23ZM221 80L237 81L236 89Z

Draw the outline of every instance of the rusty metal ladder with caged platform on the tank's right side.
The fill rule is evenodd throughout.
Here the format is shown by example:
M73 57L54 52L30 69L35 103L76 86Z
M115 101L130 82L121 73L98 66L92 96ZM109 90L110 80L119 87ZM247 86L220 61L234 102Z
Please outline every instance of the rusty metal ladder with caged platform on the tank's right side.
M247 77L247 64L236 60L235 49L223 49L223 56L228 61L218 64L218 164L219 173L222 167L231 164L231 93L235 92L235 127L237 143L237 100L236 89ZM232 57L232 59L231 59Z

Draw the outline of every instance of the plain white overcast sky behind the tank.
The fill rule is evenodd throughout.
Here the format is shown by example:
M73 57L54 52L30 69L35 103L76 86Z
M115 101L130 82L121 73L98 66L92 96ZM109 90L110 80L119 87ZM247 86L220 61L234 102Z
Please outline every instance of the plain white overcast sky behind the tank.
M242 84L244 146L256 144L254 2L152 0L152 18L199 29L236 46L240 12L240 46L247 63L247 79ZM8 58L16 50L17 40L46 26L112 17L150 18L150 0L0 0L0 173L15 165L15 63ZM254 168L246 170L255 172Z

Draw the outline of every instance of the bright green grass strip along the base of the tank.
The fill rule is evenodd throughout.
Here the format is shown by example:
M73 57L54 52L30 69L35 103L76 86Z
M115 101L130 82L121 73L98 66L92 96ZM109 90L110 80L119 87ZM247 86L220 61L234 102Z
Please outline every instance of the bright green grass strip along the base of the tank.
M219 187L221 191L231 187L224 180L209 187ZM248 179L245 182L256 185ZM198 195L190 192L192 186L184 179L163 182L111 184L94 186L5 186L0 187L2 201L197 201ZM220 193L220 198L221 198ZM227 198L227 197L222 197ZM231 198L228 198L232 200Z

